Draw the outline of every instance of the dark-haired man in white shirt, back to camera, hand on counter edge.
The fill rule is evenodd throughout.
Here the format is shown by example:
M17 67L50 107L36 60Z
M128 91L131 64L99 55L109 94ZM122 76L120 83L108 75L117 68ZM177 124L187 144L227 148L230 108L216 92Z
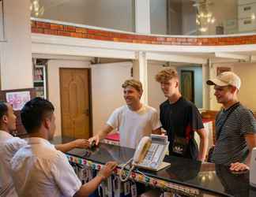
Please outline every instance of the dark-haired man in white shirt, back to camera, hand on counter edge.
M54 110L51 102L41 98L27 102L21 110L29 138L10 162L18 196L86 196L115 169L115 162L108 162L98 176L81 185L66 155L48 141L55 134Z

